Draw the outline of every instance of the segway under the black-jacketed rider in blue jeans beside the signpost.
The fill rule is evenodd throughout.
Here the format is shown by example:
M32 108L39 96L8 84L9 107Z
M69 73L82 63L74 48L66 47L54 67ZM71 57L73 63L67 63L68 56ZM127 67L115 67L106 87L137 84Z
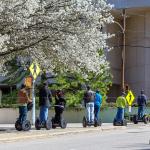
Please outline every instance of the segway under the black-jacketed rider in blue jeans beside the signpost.
M52 128L51 119L47 119L45 122L41 122L39 118L35 121L36 130L40 130L41 128L46 128L46 130L50 130Z

